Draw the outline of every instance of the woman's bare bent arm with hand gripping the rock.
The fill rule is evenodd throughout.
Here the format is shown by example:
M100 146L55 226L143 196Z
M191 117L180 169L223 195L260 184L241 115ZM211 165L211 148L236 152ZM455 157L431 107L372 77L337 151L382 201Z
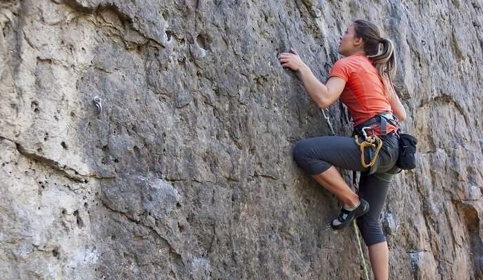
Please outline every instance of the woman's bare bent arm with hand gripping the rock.
M327 83L321 83L308 68L304 61L300 59L297 52L290 49L293 53L283 52L279 55L279 61L283 67L299 72L300 79L311 99L319 108L327 108L334 103L342 94L346 81L339 77L331 77Z

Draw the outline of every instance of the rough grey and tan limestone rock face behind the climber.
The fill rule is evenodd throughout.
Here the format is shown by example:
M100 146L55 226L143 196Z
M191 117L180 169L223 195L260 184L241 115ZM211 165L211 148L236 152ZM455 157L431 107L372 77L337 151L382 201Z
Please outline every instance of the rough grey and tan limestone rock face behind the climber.
M291 157L328 128L277 61L293 47L325 81L359 18L395 42L420 139L382 213L390 278L483 279L482 9L1 1L0 279L362 277L353 230L323 230L335 197Z

